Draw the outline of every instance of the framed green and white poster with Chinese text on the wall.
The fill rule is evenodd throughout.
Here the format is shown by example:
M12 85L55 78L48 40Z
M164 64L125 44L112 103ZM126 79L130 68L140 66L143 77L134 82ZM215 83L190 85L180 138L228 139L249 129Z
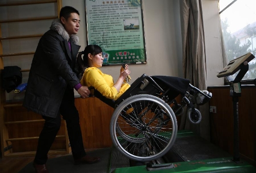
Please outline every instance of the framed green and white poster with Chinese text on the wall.
M102 48L103 66L146 63L142 0L84 0L88 44Z

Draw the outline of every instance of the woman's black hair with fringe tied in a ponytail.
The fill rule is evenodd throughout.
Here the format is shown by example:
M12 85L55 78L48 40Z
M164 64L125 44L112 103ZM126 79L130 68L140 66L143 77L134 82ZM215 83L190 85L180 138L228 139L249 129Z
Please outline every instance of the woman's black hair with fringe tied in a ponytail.
M88 45L84 48L84 51L79 52L77 55L77 70L78 76L82 76L84 70L89 68L88 54L92 54L93 56L102 52L102 49L98 45ZM83 55L83 57L82 57Z

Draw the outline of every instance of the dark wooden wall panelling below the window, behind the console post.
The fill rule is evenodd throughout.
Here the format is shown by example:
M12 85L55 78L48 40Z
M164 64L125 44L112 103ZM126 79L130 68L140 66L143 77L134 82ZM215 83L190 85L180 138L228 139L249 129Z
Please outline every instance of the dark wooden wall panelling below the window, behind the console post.
M210 113L211 142L233 154L233 101L228 87L209 88L212 93L210 106L217 113ZM239 150L241 156L255 164L256 160L256 88L242 87L239 97Z

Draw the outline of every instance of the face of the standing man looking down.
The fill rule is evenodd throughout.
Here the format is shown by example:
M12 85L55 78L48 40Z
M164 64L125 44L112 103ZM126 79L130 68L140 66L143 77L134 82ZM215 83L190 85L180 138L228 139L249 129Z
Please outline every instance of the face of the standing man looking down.
M64 17L61 17L60 20L69 35L77 34L80 24L80 18L77 13L70 13L70 17L67 20Z

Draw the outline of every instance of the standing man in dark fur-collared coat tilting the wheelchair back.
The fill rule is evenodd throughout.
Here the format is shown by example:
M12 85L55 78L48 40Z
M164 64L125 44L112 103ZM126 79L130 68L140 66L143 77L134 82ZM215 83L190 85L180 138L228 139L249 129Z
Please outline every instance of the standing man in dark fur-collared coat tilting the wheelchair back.
M66 120L72 155L75 164L95 163L97 157L88 157L84 151L79 115L74 103L74 89L82 98L89 96L88 87L82 86L75 73L78 46L79 12L63 7L59 19L39 40L29 73L23 102L27 109L45 119L34 167L36 172L48 172L47 154L60 128L62 115Z

